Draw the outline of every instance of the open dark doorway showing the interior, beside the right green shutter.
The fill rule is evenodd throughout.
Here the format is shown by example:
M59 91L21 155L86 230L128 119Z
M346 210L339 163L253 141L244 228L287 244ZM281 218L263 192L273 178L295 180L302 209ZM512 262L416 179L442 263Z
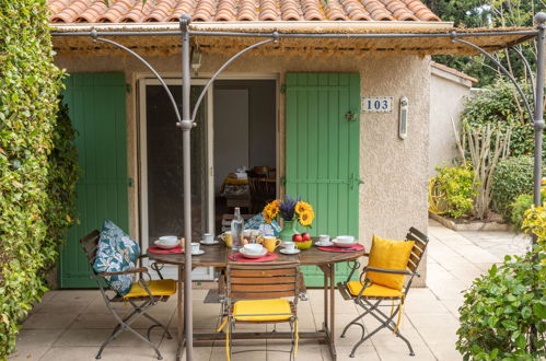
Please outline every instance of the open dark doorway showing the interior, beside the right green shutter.
M263 203L276 195L276 88L275 80L218 80L214 83L217 233L222 231L222 218L232 214L234 207L241 207L242 213L257 213Z

